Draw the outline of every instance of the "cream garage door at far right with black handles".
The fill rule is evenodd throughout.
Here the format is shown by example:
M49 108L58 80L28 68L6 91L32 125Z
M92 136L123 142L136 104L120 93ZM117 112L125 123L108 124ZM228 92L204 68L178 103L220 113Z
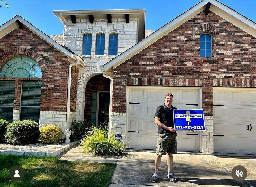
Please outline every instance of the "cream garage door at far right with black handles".
M256 89L213 90L214 152L256 154Z

